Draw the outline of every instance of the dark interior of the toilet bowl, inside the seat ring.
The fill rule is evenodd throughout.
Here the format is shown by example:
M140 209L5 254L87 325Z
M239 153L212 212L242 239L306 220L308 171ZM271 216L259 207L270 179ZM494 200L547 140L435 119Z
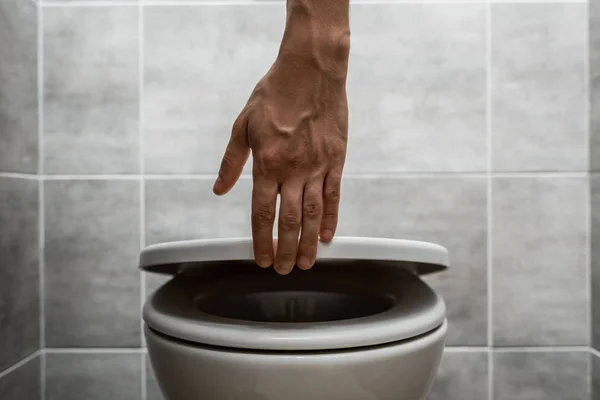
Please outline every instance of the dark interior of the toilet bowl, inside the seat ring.
M367 317L391 309L398 301L386 290L389 274L369 269L365 273L322 267L288 276L253 269L251 275L213 281L210 290L196 297L196 308L216 317L256 322L317 323Z

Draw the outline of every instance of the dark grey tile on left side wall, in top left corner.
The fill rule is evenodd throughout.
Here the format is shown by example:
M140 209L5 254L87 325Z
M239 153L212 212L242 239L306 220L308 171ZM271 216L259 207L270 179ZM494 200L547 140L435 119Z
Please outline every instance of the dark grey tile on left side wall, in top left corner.
M37 7L0 2L0 171L38 169Z

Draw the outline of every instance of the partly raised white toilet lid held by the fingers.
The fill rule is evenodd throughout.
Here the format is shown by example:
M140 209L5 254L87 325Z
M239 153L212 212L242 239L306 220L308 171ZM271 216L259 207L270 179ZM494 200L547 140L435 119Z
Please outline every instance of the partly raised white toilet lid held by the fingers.
M176 275L202 264L254 259L251 238L198 239L166 242L146 247L140 254L140 268L148 272ZM319 242L319 260L369 260L412 268L419 275L447 269L448 251L437 244L383 238L335 237Z

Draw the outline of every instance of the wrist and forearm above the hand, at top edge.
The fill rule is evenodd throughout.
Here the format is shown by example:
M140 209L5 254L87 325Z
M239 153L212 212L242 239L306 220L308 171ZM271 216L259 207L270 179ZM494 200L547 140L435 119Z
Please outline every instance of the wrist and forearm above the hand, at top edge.
M349 0L288 0L279 57L345 79L350 51ZM292 65L289 65L292 67Z

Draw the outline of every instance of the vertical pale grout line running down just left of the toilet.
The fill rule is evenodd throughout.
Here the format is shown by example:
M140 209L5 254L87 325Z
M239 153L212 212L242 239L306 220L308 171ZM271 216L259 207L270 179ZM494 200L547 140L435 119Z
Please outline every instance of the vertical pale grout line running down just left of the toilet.
M146 246L146 183L144 165L144 5L138 5L138 141L139 141L139 169L140 169L140 251ZM142 310L146 301L146 273L140 270L140 346L144 345L144 321ZM140 353L140 396L146 400L146 356Z

